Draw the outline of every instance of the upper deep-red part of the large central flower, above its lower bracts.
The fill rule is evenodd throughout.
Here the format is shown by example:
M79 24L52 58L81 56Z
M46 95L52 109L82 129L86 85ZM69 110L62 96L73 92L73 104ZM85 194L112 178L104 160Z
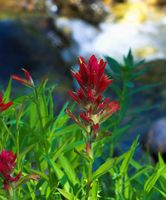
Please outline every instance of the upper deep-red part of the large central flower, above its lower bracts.
M79 71L72 71L72 75L79 83L80 89L77 92L70 92L70 96L80 105L87 105L89 102L94 103L95 101L99 101L101 94L112 82L104 74L106 62L102 59L98 62L96 57L92 55L88 64L80 57L79 65Z

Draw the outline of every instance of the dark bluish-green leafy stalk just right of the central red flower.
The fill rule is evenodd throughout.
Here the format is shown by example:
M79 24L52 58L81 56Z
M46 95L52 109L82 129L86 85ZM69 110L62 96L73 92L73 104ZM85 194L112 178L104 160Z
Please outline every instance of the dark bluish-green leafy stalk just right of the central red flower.
M140 114L158 107L158 105L147 105L145 102L139 102L135 107L133 101L134 99L141 99L139 94L142 96L143 91L153 89L159 86L160 83L140 85L140 78L148 72L148 68L144 65L145 60L137 62L134 60L131 49L127 56L123 57L123 63L119 63L109 56L105 56L105 58L108 62L108 74L113 77L111 89L117 96L121 108L115 117L113 116L107 120L105 129L109 130L111 128L114 133L121 128L122 131L119 134L113 134L115 141L119 141L122 135L133 127L136 121L138 122ZM123 124L123 127L121 127L121 124Z

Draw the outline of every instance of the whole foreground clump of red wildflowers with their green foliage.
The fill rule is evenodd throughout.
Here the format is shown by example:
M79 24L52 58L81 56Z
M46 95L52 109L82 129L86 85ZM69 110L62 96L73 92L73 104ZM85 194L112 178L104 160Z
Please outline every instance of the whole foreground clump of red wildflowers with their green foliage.
M0 200L166 199L164 154L162 158L158 153L154 165L141 150L142 166L134 156L138 137L126 152L114 154L120 136L143 111L130 107L133 95L155 84L138 88L136 81L145 69L143 62L134 62L131 51L122 64L105 58L115 83L105 74L107 63L94 55L88 62L80 57L78 71L71 70L79 87L69 92L76 104L67 108L69 116L68 104L59 114L54 112L55 90L47 80L36 84L24 68L23 76L11 76L30 93L9 100L11 81L5 92L0 91ZM119 103L104 96L110 84ZM70 124L71 119L78 126ZM105 137L110 130L113 137Z

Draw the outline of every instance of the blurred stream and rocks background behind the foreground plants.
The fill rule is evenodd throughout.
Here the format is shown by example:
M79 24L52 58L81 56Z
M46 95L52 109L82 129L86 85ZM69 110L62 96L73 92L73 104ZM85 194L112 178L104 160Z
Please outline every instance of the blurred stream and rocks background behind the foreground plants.
M1 88L24 67L35 80L49 77L58 84L62 105L80 55L121 62L129 48L150 66L140 82L161 83L134 99L135 106L140 100L158 107L143 113L132 131L157 133L166 148L166 0L0 0Z

